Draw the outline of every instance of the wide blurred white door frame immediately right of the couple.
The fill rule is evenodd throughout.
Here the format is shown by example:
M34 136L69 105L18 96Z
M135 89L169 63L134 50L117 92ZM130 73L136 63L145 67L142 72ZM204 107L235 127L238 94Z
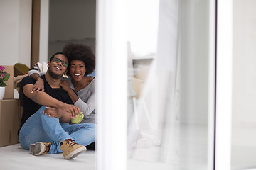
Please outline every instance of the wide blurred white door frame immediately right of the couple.
M97 169L127 169L125 0L97 1Z

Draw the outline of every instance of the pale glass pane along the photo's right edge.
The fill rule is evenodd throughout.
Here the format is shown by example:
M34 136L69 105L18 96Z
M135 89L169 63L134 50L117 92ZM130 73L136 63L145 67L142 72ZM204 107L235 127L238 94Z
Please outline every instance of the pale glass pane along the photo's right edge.
M232 169L256 168L256 1L233 1Z

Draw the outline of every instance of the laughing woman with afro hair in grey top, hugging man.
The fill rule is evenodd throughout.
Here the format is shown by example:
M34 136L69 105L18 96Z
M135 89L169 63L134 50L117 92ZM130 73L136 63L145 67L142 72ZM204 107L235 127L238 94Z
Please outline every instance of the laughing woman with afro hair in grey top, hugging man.
M95 123L95 77L87 76L95 69L95 55L90 47L73 43L65 45L63 52L70 64L69 78L61 86L85 115L81 123Z

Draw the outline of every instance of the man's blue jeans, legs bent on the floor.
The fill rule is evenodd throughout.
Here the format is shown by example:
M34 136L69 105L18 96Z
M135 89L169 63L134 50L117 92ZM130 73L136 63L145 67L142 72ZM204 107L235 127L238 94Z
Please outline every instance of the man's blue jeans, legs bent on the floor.
M46 106L42 106L22 126L19 142L24 149L36 142L51 142L49 154L57 154L62 152L60 142L65 139L73 139L84 146L95 142L95 123L60 123L58 118L44 115L45 109Z

